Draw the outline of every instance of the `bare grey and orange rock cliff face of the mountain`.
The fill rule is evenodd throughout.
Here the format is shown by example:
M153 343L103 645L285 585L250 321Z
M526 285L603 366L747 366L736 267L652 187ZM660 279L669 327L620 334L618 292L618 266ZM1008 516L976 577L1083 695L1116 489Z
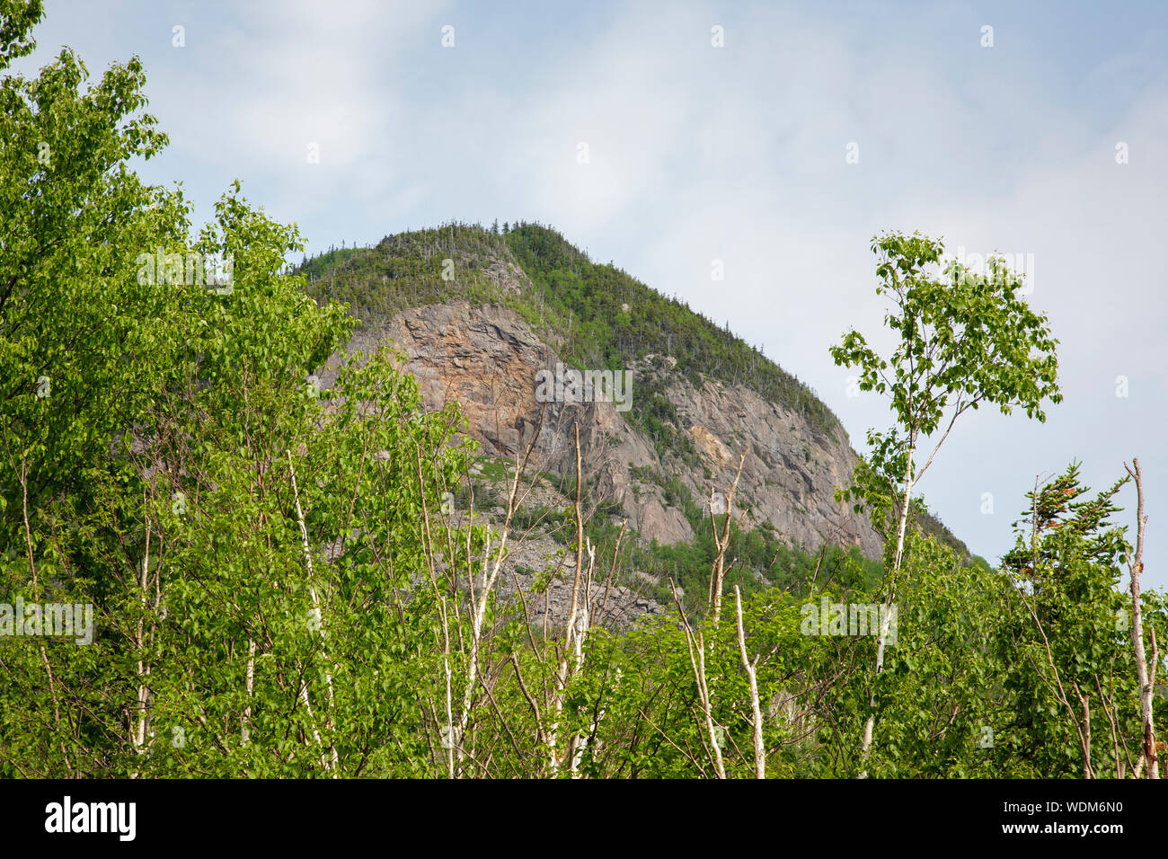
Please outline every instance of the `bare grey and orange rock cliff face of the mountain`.
M520 277L508 270L499 275ZM744 457L735 508L746 527L769 522L787 542L809 549L830 542L858 546L869 557L881 553L867 519L833 498L856 462L843 430L813 428L749 388L704 376L695 385L674 370L668 356L647 355L628 368L632 409L647 390L673 404L676 424L667 430L688 438L689 452L682 456L661 451L603 397L540 402L537 374L554 370L561 359L507 307L460 300L409 309L367 325L353 346L368 349L385 338L406 353L406 369L429 408L449 401L461 406L486 455L514 458L535 437L529 467L575 474L578 423L593 500L618 505L646 540L673 543L694 536L675 493L665 489L669 478L708 504L711 491L729 491Z

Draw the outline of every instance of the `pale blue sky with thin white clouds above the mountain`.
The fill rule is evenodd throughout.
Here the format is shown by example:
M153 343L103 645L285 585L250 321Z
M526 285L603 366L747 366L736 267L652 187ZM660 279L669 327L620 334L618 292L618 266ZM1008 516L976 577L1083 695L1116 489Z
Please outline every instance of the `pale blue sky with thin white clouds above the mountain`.
M138 55L140 165L208 220L239 179L308 254L540 221L807 382L853 445L891 425L828 347L880 349L871 237L1016 255L1059 340L1045 423L981 409L919 487L996 562L1035 478L1139 457L1168 588L1168 6L1127 2L47 0L26 74ZM989 28L989 29L987 29ZM319 155L313 158L313 155ZM724 279L714 279L715 261ZM849 390L850 389L850 390ZM1134 540L1135 493L1120 493ZM1126 584L1126 575L1124 583Z

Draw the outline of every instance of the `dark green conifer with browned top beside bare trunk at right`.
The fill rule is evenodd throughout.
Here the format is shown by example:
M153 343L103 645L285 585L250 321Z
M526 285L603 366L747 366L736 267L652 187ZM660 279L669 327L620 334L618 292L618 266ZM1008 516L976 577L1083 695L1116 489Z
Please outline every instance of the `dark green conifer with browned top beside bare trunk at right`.
M1000 751L1030 777L1122 778L1140 755L1132 607L1119 589L1129 546L1111 521L1127 479L1092 498L1071 463L1027 493L1017 542L1002 559L1014 587L1003 605L1001 677L1011 700ZM1166 635L1162 600L1146 593L1141 608Z

